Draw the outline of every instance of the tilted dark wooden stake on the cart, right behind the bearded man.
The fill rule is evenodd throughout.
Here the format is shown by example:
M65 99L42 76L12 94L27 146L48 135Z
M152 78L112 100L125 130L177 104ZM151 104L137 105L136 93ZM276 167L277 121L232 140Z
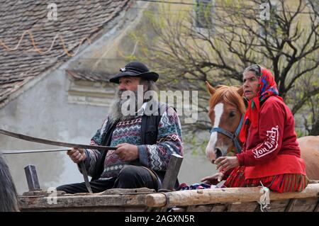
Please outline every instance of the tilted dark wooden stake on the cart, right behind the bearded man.
M181 168L182 161L183 157L181 157L179 154L172 154L162 183L163 189L171 191L174 190L174 185L176 183L177 175L179 174L179 169Z

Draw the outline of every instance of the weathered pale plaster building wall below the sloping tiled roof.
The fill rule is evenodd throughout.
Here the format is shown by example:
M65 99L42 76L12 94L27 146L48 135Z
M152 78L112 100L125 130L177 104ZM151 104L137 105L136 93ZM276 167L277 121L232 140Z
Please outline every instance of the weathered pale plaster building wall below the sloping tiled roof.
M116 21L109 24L106 28L108 32L101 35L92 45L83 47L78 55L58 69L47 72L43 79L39 79L40 81L28 89L23 89L20 95L1 108L1 128L50 140L89 144L91 137L106 118L107 102L111 101L111 98L97 105L85 104L83 99L74 101L74 96L71 98L69 96L72 91L69 91L69 77L65 69L91 69L105 74L116 73L126 62L124 59L119 59L121 52L118 52L117 45L121 50L128 52L132 50L130 47L134 43L130 43L128 35L137 24L143 23L143 17L140 15L141 7L142 5L133 5L130 11L123 13ZM105 88L108 94L114 90L114 86L101 87ZM88 86L88 89L94 87ZM0 144L1 150L55 148L4 135L0 135ZM186 157L179 174L181 182L196 183L201 177L211 173L213 167L203 155L194 157L189 150L186 149L185 152ZM36 166L42 188L83 181L77 165L65 152L11 154L6 155L5 159L9 164L18 193L28 191L23 169L28 164ZM194 166L201 167L194 168Z

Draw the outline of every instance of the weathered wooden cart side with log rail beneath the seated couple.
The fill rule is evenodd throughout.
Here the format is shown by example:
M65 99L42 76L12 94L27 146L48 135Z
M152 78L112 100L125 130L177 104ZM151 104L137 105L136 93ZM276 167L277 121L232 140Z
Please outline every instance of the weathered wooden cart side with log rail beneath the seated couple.
M30 196L31 195L31 196ZM259 211L260 187L216 188L155 193L147 188L111 189L103 193L21 196L22 211ZM55 198L55 200L54 200ZM270 192L269 211L319 211L319 183L300 193ZM55 203L54 203L55 201Z

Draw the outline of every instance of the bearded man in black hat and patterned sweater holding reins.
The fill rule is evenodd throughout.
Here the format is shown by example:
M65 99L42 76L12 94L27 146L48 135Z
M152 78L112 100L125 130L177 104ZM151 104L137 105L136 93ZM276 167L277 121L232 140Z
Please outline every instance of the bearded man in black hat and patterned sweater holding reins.
M181 123L174 108L157 102L155 81L159 75L141 62L130 62L110 81L118 84L108 117L91 139L91 145L116 147L72 148L74 163L84 162L93 193L110 188L162 186L172 154L183 155ZM81 170L80 170L81 171ZM175 188L179 186L178 181ZM85 183L57 187L67 193L86 193Z

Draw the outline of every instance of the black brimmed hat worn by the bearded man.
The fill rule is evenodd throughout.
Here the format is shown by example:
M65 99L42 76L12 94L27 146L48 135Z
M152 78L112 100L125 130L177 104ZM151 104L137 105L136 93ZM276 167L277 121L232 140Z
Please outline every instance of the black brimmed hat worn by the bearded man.
M119 83L121 77L142 77L144 79L157 81L159 75L156 72L150 72L145 64L138 61L132 61L126 64L124 68L121 68L120 73L111 77L110 81Z

